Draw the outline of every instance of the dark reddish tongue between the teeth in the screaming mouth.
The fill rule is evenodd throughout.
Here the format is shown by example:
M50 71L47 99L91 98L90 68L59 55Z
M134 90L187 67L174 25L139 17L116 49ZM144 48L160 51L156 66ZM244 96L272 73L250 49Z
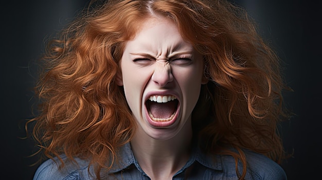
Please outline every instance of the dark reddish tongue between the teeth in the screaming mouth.
M168 103L149 102L150 112L155 118L169 118L177 108L177 101Z

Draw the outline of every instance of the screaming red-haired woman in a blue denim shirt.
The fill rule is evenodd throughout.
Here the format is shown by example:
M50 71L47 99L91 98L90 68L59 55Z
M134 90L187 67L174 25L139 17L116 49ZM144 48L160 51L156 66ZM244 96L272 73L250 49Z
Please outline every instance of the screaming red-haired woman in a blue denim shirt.
M241 8L91 5L43 56L34 179L286 179L279 59Z

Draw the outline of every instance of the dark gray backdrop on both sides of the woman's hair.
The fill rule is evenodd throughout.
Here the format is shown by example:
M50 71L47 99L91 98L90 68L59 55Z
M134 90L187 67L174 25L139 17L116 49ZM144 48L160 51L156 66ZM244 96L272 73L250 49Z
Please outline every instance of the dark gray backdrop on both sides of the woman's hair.
M321 155L321 15L320 1L240 0L260 25L285 62L284 76L294 92L284 99L296 115L281 126L286 150L294 155L282 164L289 179L312 179L322 171ZM60 30L86 5L85 0L6 1L2 3L1 113L2 176L32 179L37 157L25 136L24 123L32 117L35 66L44 40ZM7 179L7 178L6 178Z

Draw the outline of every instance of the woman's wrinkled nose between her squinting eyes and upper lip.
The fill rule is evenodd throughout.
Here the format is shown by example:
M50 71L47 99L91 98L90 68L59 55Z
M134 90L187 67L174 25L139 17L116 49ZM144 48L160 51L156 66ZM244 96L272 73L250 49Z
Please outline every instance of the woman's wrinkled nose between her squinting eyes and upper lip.
M154 72L152 74L152 81L158 84L160 87L166 86L169 82L173 81L172 69L170 63L160 62L154 64Z

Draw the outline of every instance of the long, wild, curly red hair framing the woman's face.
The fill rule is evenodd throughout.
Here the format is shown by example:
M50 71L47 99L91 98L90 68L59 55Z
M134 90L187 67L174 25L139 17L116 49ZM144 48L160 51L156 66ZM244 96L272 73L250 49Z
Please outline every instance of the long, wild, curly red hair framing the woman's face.
M152 16L173 21L204 57L209 82L192 112L201 148L232 155L244 167L242 149L279 163L284 151L277 124L288 118L280 59L247 13L221 0L91 3L50 41L42 58L44 71L35 88L40 114L28 122L35 122L39 151L49 158L63 153L90 158L98 178L117 163L117 151L131 141L136 124L115 77L124 45ZM240 179L245 174L243 168Z

